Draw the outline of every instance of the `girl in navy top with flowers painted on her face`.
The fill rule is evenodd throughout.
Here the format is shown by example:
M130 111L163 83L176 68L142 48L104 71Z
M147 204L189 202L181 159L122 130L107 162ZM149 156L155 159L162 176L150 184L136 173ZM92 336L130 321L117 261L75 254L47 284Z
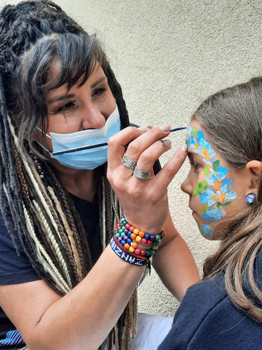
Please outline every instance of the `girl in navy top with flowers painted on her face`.
M262 349L262 78L193 114L181 189L206 239L220 240L158 350Z

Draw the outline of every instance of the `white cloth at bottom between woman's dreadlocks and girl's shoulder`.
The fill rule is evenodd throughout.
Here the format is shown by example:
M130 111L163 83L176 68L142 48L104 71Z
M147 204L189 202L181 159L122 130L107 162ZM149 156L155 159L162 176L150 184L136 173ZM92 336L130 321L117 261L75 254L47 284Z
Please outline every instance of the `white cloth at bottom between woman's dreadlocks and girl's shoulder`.
M129 350L157 350L158 345L171 329L172 322L173 317L139 313L137 334L130 339ZM114 346L113 349L115 350ZM107 350L107 346L102 345L102 350Z

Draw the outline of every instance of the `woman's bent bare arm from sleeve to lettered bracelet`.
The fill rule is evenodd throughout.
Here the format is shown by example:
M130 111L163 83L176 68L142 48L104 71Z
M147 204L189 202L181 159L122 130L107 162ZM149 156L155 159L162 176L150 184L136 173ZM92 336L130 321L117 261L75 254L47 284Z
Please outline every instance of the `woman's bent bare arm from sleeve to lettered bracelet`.
M0 286L1 307L30 350L96 350L123 312L144 266L108 246L85 279L61 297L44 281Z

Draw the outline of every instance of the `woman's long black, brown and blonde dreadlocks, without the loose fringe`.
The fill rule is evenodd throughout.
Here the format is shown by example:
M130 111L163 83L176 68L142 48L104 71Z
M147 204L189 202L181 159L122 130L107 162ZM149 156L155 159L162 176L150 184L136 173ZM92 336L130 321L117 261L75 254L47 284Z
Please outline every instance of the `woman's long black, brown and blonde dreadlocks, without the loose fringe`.
M92 256L87 234L70 196L59 183L48 161L41 156L41 149L32 142L36 126L44 126L46 120L43 91L39 90L38 100L34 90L29 91L28 88L28 91L23 91L18 74L21 57L40 38L56 33L88 38L74 20L48 0L23 1L17 5L7 5L0 12L0 209L17 253L21 243L39 278L57 293L64 295L85 278L93 267ZM116 99L121 127L125 128L129 126L129 118L121 86L103 51L100 58L99 62ZM79 62L81 63L81 57ZM85 79L90 72L85 71ZM70 84L77 83L83 73L78 71L78 75L71 79L70 72L67 74L70 87ZM42 83L44 86L45 82ZM65 82L58 80L57 84L61 86ZM24 94L17 95L15 87ZM23 109L28 101L31 102L29 109ZM38 109L34 106L38 106ZM38 119L31 118L28 123L28 142L25 142L26 133L22 128L17 132L13 124L16 121L16 124L22 125L31 116L27 113L30 108L36 108L34 112ZM11 119L7 109L12 111ZM109 243L114 225L121 214L121 207L107 180L106 171L105 165L97 169L96 173L103 247ZM132 315L133 305L137 308L136 298L135 292L117 325L110 332L107 338L109 350L112 343L118 344L118 349L122 349L124 333L125 350L128 350L129 338L135 333ZM128 324L123 332L126 321Z

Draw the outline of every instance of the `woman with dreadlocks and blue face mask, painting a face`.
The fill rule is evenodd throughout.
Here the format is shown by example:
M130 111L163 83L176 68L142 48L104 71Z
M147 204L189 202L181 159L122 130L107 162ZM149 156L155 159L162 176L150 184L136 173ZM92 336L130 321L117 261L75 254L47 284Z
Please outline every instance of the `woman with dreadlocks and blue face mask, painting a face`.
M128 350L136 287L165 235L165 285L181 300L199 278L166 195L186 152L157 169L170 125L129 127L95 35L50 1L1 10L0 103L0 348ZM117 132L108 155L83 149Z

